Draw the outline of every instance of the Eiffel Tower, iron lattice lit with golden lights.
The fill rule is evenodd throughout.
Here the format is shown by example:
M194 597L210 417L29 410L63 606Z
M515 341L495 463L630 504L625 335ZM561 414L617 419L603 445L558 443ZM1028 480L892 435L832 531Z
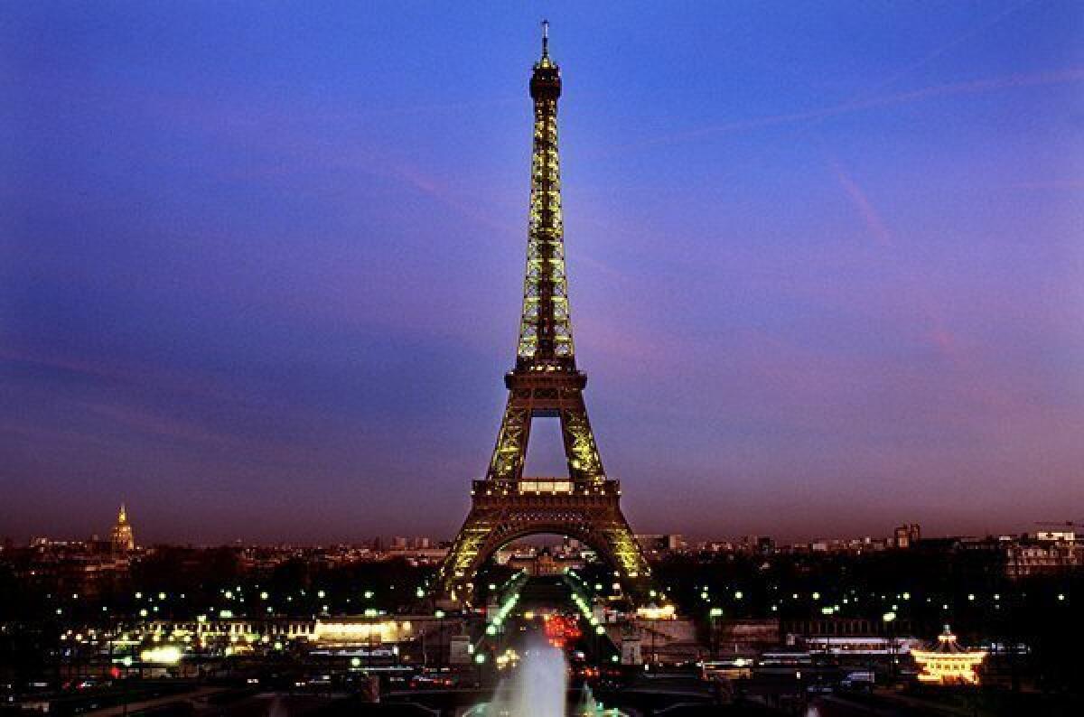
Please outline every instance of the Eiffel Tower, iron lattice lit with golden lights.
M508 402L483 480L474 481L472 508L437 578L444 604L473 603L473 581L499 548L526 535L557 533L595 549L634 597L650 568L621 513L620 484L607 478L588 420L576 367L565 275L565 238L557 162L560 70L550 58L549 25L530 81L534 101L530 224L524 309L515 368L505 375ZM567 478L524 475L534 417L560 419Z

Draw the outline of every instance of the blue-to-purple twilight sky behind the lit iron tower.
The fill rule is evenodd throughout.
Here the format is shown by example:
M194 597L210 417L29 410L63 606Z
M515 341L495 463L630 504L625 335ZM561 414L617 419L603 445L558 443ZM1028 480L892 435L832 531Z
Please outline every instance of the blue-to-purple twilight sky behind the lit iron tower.
M1084 519L1084 5L603 4L3 3L0 536L450 537L543 16L635 530Z

